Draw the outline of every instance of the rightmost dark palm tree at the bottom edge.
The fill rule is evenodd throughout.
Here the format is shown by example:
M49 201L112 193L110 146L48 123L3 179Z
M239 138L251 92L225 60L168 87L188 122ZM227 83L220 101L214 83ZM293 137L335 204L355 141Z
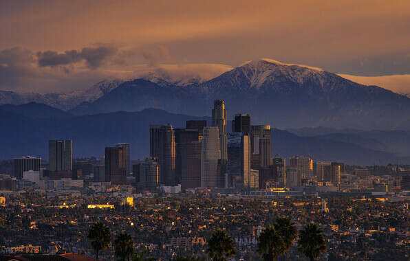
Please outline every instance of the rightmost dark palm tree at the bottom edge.
M303 253L310 261L318 258L326 251L326 238L323 231L314 223L310 223L299 231L298 251Z

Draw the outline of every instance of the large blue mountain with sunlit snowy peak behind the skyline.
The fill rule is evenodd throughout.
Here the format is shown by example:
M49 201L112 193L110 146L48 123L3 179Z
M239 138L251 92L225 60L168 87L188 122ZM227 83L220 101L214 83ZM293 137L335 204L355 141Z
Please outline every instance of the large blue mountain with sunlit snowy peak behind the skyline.
M151 80L160 82L158 78ZM123 82L73 113L153 107L173 113L208 115L213 100L223 99L231 116L251 113L253 123L280 128L410 128L409 98L380 87L357 84L316 67L261 59L188 87L161 80L167 84L147 80Z

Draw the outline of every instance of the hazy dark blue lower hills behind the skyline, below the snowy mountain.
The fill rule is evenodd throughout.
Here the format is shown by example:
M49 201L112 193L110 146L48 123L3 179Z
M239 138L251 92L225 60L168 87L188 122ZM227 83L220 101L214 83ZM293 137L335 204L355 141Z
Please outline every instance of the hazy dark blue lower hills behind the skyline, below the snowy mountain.
M49 139L73 139L74 157L102 156L105 146L127 142L131 144L131 158L143 159L149 155L149 124L170 123L175 128L183 128L186 120L211 120L159 109L73 115L36 103L0 106L0 118L0 159L33 155L46 160ZM272 155L308 155L314 160L356 165L409 163L410 133L367 131L357 134L360 132L274 128Z

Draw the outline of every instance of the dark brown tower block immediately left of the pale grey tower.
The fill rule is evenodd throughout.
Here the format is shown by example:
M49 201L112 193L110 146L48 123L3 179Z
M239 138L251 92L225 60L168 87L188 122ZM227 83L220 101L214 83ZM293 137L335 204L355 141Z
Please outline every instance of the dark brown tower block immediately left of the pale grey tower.
M181 144L180 151L182 190L200 187L202 141Z

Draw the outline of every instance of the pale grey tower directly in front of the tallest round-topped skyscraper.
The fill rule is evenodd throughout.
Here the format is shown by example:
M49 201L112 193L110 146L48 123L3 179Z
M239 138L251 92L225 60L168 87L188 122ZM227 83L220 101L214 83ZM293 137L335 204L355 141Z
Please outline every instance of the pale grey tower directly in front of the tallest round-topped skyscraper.
M221 174L218 172L221 159L219 150L219 128L217 126L205 127L201 150L201 186L215 188ZM222 179L224 177L222 176Z

